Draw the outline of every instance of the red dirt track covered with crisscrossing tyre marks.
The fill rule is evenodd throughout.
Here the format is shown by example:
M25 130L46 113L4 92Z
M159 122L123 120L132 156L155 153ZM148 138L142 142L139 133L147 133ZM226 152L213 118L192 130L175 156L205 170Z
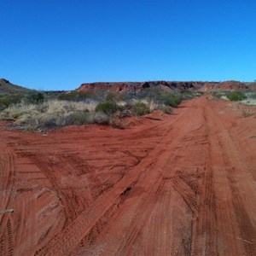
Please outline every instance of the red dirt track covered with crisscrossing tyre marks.
M0 127L0 255L256 255L256 118L183 103L130 129Z

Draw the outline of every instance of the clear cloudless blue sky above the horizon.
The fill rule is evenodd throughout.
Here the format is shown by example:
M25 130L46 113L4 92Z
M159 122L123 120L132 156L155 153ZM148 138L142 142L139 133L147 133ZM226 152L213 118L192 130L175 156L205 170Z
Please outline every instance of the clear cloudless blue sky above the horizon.
M0 0L0 14L13 84L256 79L255 0Z

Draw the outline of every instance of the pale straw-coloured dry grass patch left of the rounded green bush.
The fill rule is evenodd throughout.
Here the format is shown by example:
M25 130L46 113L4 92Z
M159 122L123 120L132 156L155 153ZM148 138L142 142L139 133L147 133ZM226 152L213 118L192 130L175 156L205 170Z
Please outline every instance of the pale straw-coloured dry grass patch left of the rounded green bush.
M95 104L48 101L42 104L12 105L3 110L0 119L15 120L27 130L52 129L66 125L107 124L108 116L95 113Z

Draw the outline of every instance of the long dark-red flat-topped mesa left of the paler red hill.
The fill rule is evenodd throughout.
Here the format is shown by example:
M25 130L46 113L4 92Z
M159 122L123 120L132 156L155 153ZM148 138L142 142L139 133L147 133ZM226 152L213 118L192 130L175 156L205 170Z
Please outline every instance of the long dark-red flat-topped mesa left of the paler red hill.
M113 92L137 92L146 88L160 88L164 90L198 90L204 82L99 82L81 84L77 90L113 91ZM214 83L215 84L215 83Z

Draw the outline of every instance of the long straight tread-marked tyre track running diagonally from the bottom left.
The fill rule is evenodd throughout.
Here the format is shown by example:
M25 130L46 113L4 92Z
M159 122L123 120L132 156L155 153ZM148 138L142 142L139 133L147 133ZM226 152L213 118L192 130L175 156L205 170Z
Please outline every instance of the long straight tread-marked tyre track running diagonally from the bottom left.
M178 116L177 119L180 118L181 116ZM166 123L166 125L169 126L170 123ZM163 129L163 127L161 127L161 129ZM163 139L164 138L161 140ZM121 179L108 193L100 195L90 206L90 209L81 212L79 217L76 218L72 224L67 226L67 229L55 236L46 246L39 248L36 255L44 255L45 253L48 255L71 253L73 248L82 241L84 236L90 232L95 223L102 218L103 214L108 211L113 203L119 201L119 195L121 195L127 187L130 187L132 183L136 183L137 178L140 177L144 170L147 170L147 166L154 164L155 160L161 154L162 147L162 145L160 145L160 147L156 146L154 150L148 154L147 158L150 159L149 163L147 158L141 160L137 166L133 167L133 169L125 175L125 179Z

